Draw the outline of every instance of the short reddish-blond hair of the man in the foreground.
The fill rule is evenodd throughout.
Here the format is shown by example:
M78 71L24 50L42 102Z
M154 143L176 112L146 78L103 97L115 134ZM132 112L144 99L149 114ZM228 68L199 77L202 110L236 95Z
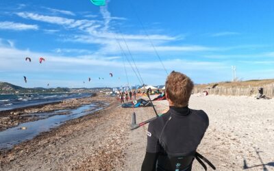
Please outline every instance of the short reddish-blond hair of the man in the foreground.
M174 70L166 78L166 93L175 107L188 105L193 86L193 82L188 76Z

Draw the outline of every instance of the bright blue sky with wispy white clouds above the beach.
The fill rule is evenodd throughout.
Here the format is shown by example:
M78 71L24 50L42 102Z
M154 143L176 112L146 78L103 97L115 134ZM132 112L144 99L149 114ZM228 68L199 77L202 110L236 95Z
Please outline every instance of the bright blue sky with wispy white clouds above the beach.
M239 80L273 79L273 5L2 0L0 81L28 88L158 86L175 70L194 83L212 83L231 81L232 66Z

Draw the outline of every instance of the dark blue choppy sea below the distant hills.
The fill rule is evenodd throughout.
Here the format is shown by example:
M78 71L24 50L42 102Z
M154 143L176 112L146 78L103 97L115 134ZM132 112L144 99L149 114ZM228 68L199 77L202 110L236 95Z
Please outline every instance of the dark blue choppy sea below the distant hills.
M91 96L91 93L0 94L0 111L87 96Z

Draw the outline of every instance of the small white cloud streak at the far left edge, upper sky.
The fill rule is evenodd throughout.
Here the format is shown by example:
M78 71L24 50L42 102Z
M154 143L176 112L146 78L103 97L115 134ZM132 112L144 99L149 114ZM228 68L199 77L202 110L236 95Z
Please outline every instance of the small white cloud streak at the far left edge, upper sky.
M23 30L28 30L28 29L38 29L38 25L26 25L23 23L14 23L10 21L3 21L0 22L0 29L11 29L11 30L16 30L16 31L23 31Z

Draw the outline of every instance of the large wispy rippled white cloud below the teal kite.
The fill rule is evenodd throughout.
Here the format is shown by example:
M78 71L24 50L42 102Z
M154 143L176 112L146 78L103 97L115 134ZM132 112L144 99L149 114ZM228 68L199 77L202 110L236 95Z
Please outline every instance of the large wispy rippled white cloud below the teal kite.
M110 52L120 51L117 49L117 42L115 39L123 42L127 42L129 49L131 51L154 51L151 44L148 43L149 39L153 41L156 49L158 51L208 51L208 47L199 46L163 46L163 43L178 40L178 37L172 37L167 35L152 34L152 35L142 35L142 34L116 34L109 31L110 21L113 19L110 12L108 12L107 7L101 7L101 14L104 18L104 22L101 21L90 21L90 20L74 20L71 18L64 18L59 16L45 16L40 14L34 14L30 12L18 12L17 15L23 18L28 18L36 21L42 21L47 23L52 23L55 25L62 25L66 28L75 28L84 31L82 35L67 36L64 37L64 41L71 42L82 42L90 44L101 44L101 51L108 49ZM103 25L102 25L103 23ZM182 39L182 36L179 38ZM108 52L105 51L105 52Z

